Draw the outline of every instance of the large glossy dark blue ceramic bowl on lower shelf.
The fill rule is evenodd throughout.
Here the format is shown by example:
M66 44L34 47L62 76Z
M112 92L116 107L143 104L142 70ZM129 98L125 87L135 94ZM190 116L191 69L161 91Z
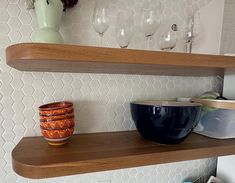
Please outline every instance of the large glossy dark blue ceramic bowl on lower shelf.
M174 101L131 103L131 114L139 133L161 144L183 141L198 124L201 104Z

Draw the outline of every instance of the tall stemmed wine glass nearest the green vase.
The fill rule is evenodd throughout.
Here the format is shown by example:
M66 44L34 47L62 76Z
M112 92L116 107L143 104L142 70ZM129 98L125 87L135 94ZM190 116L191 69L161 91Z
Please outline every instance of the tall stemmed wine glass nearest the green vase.
M100 36L100 45L102 45L104 33L109 28L109 23L108 1L97 0L93 11L92 25Z

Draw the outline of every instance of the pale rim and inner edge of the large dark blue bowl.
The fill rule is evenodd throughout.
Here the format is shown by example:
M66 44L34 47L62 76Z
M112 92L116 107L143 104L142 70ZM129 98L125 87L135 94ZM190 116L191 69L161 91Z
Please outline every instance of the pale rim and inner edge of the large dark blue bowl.
M158 106L158 107L201 107L201 103L180 102L175 100L143 100L134 101L131 104L144 106Z

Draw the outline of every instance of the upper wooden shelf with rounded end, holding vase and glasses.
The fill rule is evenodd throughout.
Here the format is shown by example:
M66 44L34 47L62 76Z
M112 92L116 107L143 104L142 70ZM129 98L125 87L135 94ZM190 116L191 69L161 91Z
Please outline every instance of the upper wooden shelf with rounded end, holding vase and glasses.
M209 76L235 68L228 56L44 43L12 45L6 60L18 70L45 72Z

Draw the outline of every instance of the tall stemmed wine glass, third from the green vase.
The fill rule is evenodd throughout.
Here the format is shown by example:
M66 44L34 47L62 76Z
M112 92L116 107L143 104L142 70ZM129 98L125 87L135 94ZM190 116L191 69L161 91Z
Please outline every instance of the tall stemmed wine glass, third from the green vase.
M147 48L149 48L149 42L157 31L162 19L162 5L160 2L156 6L145 7L143 9L142 28L146 37Z

